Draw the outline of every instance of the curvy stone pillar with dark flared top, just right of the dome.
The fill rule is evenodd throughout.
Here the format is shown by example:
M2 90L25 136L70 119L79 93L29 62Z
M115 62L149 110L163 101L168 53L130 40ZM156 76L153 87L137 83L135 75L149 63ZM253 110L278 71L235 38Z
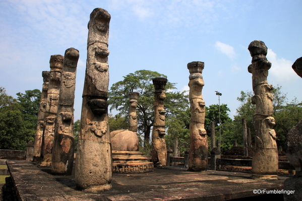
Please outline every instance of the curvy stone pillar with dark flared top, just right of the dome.
M166 78L153 78L152 79L155 93L154 93L154 122L152 129L152 150L151 161L157 167L166 165L167 148L164 139L165 135L165 109L163 101L166 98L165 86L167 83Z

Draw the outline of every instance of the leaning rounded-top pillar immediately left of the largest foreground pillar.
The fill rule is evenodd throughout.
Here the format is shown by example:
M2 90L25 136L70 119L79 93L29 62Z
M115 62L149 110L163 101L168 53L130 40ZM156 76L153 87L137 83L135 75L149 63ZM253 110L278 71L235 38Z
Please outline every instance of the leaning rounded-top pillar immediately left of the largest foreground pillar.
M52 149L53 174L71 175L73 169L74 101L79 56L79 50L75 48L65 51Z

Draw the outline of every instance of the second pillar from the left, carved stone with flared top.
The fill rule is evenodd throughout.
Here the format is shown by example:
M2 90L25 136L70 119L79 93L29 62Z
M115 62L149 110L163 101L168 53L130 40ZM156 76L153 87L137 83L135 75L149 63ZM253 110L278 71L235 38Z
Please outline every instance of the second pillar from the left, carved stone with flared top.
M45 128L43 132L43 141L41 149L40 166L51 166L51 151L54 138L54 126L59 98L59 91L61 86L61 75L63 68L64 56L51 55L50 56L50 74L47 91L47 103L45 112Z

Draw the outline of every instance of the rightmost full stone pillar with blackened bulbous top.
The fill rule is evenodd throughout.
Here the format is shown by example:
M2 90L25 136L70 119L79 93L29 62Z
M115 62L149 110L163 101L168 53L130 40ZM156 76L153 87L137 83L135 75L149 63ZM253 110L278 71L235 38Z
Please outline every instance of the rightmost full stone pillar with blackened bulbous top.
M272 128L275 124L273 114L273 87L267 83L268 70L271 62L266 58L267 47L264 42L255 40L250 43L252 64L248 71L253 82L252 103L256 104L254 113L255 152L252 161L253 178L277 179L278 150L276 132Z

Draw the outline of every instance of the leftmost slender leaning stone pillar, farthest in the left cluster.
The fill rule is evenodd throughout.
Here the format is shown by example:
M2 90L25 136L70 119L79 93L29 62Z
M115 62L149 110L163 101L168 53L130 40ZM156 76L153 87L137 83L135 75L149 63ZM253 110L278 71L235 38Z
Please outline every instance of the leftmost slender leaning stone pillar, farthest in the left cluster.
M41 156L41 146L42 146L42 139L43 139L42 136L44 130L47 91L48 91L48 83L49 83L49 71L42 71L42 77L43 77L43 87L41 93L40 108L38 113L37 130L34 140L34 153L33 153L34 162L40 162L40 156Z

